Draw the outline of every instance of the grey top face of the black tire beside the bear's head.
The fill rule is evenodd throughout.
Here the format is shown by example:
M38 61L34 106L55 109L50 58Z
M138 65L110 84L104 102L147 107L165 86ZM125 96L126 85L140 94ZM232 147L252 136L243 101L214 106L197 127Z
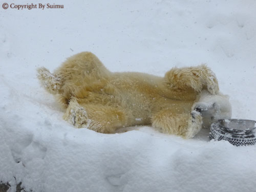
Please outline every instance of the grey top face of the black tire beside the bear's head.
M246 119L219 119L221 126L229 130L253 131L255 129L254 120Z

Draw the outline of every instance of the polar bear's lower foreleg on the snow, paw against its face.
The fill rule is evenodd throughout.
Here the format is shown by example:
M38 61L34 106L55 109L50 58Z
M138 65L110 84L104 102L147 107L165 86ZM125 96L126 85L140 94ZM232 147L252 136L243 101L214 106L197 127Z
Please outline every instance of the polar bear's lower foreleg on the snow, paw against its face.
M172 114L162 110L152 117L152 126L160 132L193 138L202 127L202 117L199 112Z

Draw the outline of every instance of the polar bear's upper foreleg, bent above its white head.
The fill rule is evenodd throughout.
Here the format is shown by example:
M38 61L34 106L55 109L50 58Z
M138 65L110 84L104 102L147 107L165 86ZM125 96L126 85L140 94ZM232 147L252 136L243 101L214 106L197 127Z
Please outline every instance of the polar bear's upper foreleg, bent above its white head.
M192 88L197 92L207 89L215 95L219 92L218 80L206 65L198 67L173 68L165 74L165 80L173 90Z

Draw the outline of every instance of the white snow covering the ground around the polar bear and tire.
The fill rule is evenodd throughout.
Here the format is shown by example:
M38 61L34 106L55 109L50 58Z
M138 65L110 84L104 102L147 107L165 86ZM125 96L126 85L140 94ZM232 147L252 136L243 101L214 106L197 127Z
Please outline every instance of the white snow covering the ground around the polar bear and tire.
M9 191L20 181L46 192L255 191L256 146L209 141L208 130L184 140L150 126L75 129L36 79L38 67L52 71L81 51L111 71L159 76L207 63L232 118L255 120L255 1L54 3L64 8L0 12L0 181Z

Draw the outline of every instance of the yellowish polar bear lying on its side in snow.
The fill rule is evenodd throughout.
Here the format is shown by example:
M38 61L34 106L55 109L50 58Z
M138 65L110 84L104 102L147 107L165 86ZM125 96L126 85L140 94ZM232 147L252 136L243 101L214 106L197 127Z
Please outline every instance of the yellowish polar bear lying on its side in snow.
M126 126L152 126L160 132L194 137L202 127L231 117L228 97L219 92L215 74L205 65L173 68L164 77L113 73L91 52L71 56L37 77L66 109L75 127L115 133Z

